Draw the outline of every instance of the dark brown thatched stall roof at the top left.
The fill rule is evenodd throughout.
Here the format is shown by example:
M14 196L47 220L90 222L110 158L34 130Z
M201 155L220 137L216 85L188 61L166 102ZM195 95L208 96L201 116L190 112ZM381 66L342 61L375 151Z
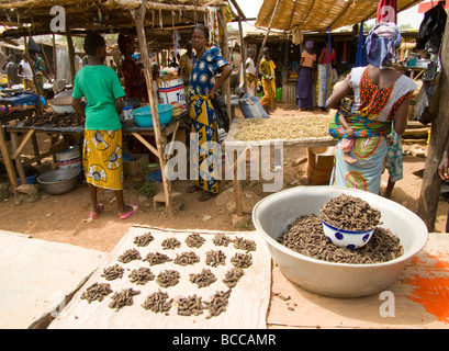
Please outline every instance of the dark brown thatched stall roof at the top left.
M145 3L149 42L171 42L171 33L189 33L194 23L204 22L206 5L227 5L227 0L0 0L0 25L7 26L0 37L53 34L50 14L55 5L65 10L66 24L72 35L86 31L119 33L135 31L132 11ZM65 34L65 33L56 33Z

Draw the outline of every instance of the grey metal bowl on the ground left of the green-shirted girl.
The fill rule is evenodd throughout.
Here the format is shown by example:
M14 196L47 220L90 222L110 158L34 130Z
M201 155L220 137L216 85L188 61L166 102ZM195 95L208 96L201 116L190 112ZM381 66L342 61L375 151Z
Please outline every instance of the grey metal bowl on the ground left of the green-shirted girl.
M78 185L79 170L55 169L37 177L37 182L52 195L60 195L72 191Z

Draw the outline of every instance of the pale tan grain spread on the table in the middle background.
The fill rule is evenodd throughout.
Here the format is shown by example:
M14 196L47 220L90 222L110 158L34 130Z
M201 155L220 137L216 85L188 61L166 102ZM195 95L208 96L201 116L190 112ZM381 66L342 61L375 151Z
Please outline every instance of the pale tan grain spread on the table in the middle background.
M242 141L330 137L329 122L327 116L245 120L239 122L234 137Z

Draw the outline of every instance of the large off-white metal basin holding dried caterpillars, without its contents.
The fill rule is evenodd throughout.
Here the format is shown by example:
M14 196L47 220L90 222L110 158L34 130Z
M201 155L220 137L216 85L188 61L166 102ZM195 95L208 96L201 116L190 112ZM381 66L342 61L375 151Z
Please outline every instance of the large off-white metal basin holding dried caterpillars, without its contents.
M298 217L319 217L323 205L344 193L360 197L381 212L381 227L400 238L403 256L377 264L334 263L298 253L277 241ZM290 281L333 297L357 297L386 290L403 271L405 261L424 248L428 236L424 222L402 205L366 191L327 185L299 186L269 195L252 208L252 222L271 258Z

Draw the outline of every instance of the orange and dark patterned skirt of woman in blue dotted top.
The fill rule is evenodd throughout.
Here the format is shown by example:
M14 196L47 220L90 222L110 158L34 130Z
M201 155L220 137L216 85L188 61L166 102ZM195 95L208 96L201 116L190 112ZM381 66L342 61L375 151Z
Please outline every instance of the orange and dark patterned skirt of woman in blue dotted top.
M222 154L217 144L217 122L211 99L205 95L189 97L189 116L192 120L190 138L191 150L198 154L190 159L190 178L204 191L218 193Z

